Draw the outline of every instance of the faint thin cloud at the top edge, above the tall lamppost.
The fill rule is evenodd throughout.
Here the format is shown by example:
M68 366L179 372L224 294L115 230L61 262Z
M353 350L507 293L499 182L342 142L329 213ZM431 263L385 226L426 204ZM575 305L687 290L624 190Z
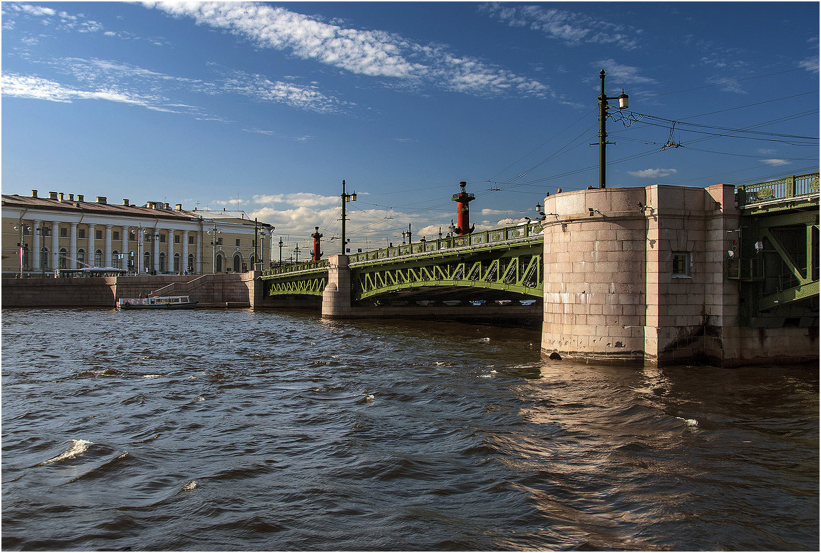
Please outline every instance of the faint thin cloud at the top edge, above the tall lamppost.
M569 45L608 44L632 50L639 47L642 33L640 29L545 5L521 6L493 2L481 4L479 12L493 16L512 27L526 27L539 31L551 39Z

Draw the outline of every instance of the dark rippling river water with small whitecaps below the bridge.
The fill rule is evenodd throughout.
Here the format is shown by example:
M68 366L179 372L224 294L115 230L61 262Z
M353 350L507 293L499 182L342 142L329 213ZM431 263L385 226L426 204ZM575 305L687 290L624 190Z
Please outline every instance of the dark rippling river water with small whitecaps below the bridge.
M2 548L819 548L817 367L540 359L537 331L2 311Z

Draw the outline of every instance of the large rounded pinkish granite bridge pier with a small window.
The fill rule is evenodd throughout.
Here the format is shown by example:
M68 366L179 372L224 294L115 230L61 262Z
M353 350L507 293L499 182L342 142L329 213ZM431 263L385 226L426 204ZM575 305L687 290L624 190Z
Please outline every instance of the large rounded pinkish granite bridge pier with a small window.
M653 185L548 196L542 352L615 363L818 359L818 327L744 328L725 263L735 188Z

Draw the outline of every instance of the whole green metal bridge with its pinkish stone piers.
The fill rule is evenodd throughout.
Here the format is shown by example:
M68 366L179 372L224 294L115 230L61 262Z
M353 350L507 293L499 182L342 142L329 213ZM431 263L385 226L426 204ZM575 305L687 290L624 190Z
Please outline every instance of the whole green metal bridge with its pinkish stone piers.
M544 354L616 362L818 359L819 173L545 199L540 221L262 272L323 317L528 310ZM489 307L489 308L488 308ZM491 310L493 309L493 310Z

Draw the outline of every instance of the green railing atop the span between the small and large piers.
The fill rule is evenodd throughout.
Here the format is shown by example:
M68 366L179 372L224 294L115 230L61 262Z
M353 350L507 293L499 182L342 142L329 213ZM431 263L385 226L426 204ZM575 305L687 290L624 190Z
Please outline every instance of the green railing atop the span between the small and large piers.
M531 236L541 235L542 225L538 221L522 223L516 226L503 226L489 231L472 232L469 235L453 236L451 238L436 238L420 240L413 244L392 246L383 249L373 249L361 254L351 254L350 263L376 261L378 259L397 258L403 255L432 254L441 250L464 248L467 246L496 244L511 240L523 240Z

